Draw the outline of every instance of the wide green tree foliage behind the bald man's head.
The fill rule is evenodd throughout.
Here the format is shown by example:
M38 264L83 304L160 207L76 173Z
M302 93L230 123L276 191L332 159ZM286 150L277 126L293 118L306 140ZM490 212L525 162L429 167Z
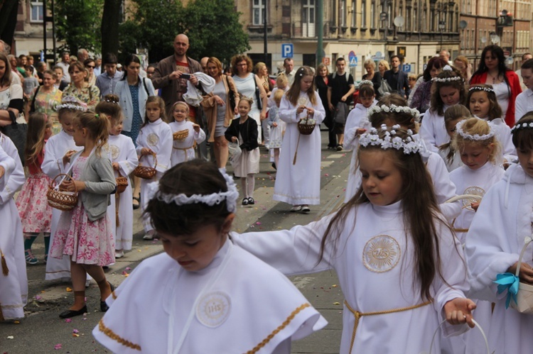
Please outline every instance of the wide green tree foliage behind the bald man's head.
M199 60L215 56L222 62L248 50L248 36L239 23L233 0L133 0L135 9L120 27L123 53L148 48L150 61L172 55L179 33L189 37L188 55Z

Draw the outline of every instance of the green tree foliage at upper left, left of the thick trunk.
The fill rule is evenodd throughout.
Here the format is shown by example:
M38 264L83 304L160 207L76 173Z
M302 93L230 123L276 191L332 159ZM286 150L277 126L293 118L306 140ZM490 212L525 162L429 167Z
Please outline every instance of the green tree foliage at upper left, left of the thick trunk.
M65 45L59 50L75 54L85 48L92 52L100 50L100 21L104 0L55 0L55 28L58 40ZM50 9L49 6L47 6Z

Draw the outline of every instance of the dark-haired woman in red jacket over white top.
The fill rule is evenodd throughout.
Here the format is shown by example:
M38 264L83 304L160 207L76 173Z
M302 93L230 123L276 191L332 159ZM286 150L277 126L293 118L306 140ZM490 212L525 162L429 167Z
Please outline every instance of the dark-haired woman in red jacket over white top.
M502 48L488 45L483 49L478 70L470 79L470 85L473 84L492 85L498 104L502 107L502 118L505 117L507 126L515 126L515 99L522 89L518 75L505 67Z

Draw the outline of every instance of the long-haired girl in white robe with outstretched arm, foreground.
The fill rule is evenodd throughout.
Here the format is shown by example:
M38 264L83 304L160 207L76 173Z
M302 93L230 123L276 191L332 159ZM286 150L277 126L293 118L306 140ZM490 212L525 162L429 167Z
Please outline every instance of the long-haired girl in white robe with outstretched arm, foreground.
M451 324L473 326L461 245L438 211L425 147L410 134L394 126L360 136L362 187L334 214L291 230L232 234L285 275L337 272L340 353L421 353L444 319L446 336L467 329Z

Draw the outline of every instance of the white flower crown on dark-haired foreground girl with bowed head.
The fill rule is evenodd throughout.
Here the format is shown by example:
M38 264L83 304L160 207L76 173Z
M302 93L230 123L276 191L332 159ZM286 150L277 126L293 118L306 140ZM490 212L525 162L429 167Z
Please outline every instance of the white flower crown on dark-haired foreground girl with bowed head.
M159 190L159 182L151 182L147 185L148 187L148 199L157 198L159 201L164 201L166 204L175 203L176 205L185 205L185 204L208 204L208 206L213 206L215 204L220 204L222 201L226 201L227 211L230 213L235 213L237 211L237 199L239 198L239 192L237 191L237 186L233 182L233 178L227 175L225 169L219 169L222 176L226 180L227 192L218 192L212 194L193 194L190 197L181 193L181 194L166 194Z

